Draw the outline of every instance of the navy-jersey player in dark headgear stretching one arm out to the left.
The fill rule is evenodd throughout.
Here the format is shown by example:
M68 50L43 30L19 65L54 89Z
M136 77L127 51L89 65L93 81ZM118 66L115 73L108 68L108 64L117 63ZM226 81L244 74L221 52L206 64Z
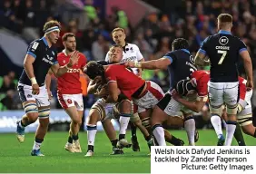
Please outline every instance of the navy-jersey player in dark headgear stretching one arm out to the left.
M192 54L188 51L189 43L183 38L177 38L172 42L172 52L166 53L161 59L143 62L126 63L129 67L143 69L165 69L170 73L170 90L153 109L151 126L153 135L160 146L165 146L164 130L162 123L168 120L168 116L185 117L184 128L187 131L190 145L195 141L195 122L192 117L192 111L182 107L182 104L172 99L171 91L177 82L182 79L189 79L190 74L196 70L193 63Z

